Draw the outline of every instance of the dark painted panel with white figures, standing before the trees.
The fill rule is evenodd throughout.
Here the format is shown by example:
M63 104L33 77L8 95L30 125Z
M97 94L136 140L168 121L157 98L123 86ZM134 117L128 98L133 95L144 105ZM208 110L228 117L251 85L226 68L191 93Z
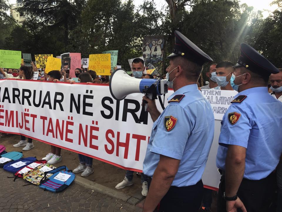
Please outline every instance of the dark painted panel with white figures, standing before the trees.
M164 36L146 36L143 40L143 58L147 66L152 64L156 72L164 71Z

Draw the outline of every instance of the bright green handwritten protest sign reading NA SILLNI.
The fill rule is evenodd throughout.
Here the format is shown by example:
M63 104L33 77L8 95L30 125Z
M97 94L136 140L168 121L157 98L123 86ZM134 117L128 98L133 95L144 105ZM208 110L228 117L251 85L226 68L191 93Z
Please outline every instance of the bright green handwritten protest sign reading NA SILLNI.
M21 51L1 50L0 67L18 69L21 67Z

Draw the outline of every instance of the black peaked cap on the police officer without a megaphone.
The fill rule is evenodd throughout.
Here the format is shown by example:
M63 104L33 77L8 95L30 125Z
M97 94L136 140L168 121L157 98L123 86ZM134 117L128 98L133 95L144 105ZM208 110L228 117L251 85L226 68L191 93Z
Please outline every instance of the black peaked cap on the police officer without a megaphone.
M270 75L279 73L271 62L263 57L256 49L248 44L242 43L240 45L241 55L236 65L233 67L245 67L250 71L260 75Z

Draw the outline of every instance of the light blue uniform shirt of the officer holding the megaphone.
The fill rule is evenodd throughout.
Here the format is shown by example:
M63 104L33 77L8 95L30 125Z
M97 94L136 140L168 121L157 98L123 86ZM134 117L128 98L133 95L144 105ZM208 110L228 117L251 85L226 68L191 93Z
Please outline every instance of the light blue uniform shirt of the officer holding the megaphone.
M170 102L154 122L143 163L143 172L152 177L160 155L180 160L172 182L177 187L195 185L201 180L214 137L212 107L197 85L180 88L168 100L181 94L185 95L183 99ZM169 131L165 128L165 116L177 118Z

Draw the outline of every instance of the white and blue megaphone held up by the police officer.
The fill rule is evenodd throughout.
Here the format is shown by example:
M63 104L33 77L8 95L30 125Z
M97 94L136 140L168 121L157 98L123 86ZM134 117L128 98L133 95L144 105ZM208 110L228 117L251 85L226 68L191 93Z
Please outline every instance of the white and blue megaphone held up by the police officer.
M124 69L116 69L110 79L110 92L115 100L123 100L132 93L143 93L150 99L157 99L168 92L168 86L166 80L137 79L130 77Z

